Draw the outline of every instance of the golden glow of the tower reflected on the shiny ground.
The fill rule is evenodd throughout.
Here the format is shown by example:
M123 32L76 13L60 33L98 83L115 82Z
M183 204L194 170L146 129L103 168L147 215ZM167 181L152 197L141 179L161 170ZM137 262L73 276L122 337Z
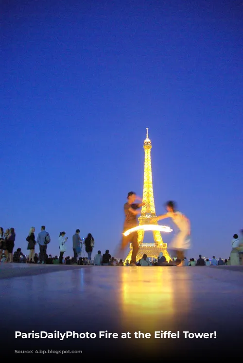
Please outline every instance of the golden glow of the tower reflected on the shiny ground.
M135 339L144 349L158 342L154 332L177 331L180 317L190 309L190 283L184 267L124 267L121 272L121 325L124 331L149 332L151 339ZM174 344L174 343L173 343Z

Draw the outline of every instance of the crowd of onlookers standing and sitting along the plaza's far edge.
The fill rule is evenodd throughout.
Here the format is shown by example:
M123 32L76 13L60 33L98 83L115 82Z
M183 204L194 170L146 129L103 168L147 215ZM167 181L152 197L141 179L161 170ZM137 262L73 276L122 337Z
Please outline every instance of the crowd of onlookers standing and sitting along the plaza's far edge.
M199 255L199 259L194 258L187 259L186 257L182 260L181 266L221 266L230 264L243 264L243 253L239 250L243 244L243 230L241 231L242 238L240 239L237 234L234 234L233 240L231 241L232 250L231 255L228 259L203 259ZM38 233L37 239L35 239L35 227L31 227L28 236L26 237L27 250L29 255L23 254L21 248L17 248L13 254L16 240L16 233L14 228L7 228L4 232L3 228L0 227L0 261L1 262L21 262L21 263L43 263L43 264L79 264L79 265L96 265L96 266L128 266L130 261L123 261L122 259L116 259L112 257L109 250L106 250L104 254L99 250L98 253L91 259L92 251L94 247L94 238L91 233L88 233L86 238L80 237L80 230L76 229L72 236L72 248L73 257L64 257L67 251L66 232L62 231L59 234L59 254L55 257L47 254L48 244L51 242L50 234L46 231L44 225L41 226L41 231ZM39 246L39 253L35 252L36 245ZM82 256L83 255L83 256ZM86 255L86 256L85 256ZM236 261L236 259L238 259ZM174 266L174 259L169 262L163 256L163 252L159 254L157 259L150 260L146 254L139 260L135 261L137 266ZM177 264L178 265L178 264Z

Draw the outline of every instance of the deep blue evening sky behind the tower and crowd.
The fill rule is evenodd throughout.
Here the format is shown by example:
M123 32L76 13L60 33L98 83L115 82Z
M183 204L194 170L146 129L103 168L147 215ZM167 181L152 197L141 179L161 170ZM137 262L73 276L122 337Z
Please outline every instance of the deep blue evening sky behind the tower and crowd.
M9 0L0 36L0 225L15 249L46 225L48 253L65 230L71 254L76 228L113 253L149 127L157 214L175 200L187 257L228 258L243 228L241 0Z

